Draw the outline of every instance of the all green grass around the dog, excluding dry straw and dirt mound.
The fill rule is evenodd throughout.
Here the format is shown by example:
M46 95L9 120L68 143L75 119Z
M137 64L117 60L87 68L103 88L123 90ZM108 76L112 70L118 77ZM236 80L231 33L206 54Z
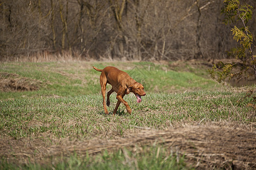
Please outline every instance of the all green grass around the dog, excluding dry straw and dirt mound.
M35 140L42 147L62 141L123 138L136 128L164 130L183 123L199 124L209 121L255 122L253 97L245 92L224 90L202 69L187 66L175 71L169 65L150 62L114 63L138 82L144 84L146 96L136 103L133 94L124 99L132 114L121 104L112 116L117 102L111 95L110 115L105 115L100 94L99 75L91 65L102 69L109 63L1 63L0 73L18 74L41 82L37 91L0 92L0 137L12 142ZM177 69L178 70L178 69ZM187 72L190 71L190 72ZM110 86L108 85L108 88ZM24 144L22 144L24 145ZM22 148L23 146L18 146ZM160 149L158 149L160 148ZM158 151L159 150L159 151ZM15 149L1 155L1 169L183 169L183 158L162 146L147 146L141 152L124 149L94 156L66 155L44 164L16 163ZM17 151L18 152L18 151ZM36 155L36 150L33 151ZM158 154L157 154L158 152ZM156 156L158 155L158 156ZM26 158L27 159L27 158ZM7 161L11 160L11 161Z

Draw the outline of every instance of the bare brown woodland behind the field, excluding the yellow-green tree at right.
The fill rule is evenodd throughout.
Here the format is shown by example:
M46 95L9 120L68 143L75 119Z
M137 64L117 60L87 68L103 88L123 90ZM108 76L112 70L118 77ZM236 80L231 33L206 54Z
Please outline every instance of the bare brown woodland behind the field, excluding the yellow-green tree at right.
M255 0L241 2L256 7ZM236 41L222 7L220 0L0 0L0 57L227 58Z

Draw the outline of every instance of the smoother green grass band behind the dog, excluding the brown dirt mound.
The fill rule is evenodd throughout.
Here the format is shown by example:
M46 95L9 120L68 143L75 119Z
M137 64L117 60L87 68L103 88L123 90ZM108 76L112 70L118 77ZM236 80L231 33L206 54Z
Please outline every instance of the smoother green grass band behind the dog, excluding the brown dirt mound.
M28 78L31 82L39 81L38 91L0 92L1 99L17 99L20 97L41 96L77 96L98 94L100 92L98 71L92 65L103 69L114 65L127 71L137 82L144 84L146 92L181 92L195 90L216 90L221 86L196 71L177 72L163 70L162 65L150 62L131 63L0 63L0 73L17 74L20 78ZM150 69L149 69L150 66ZM165 66L167 68L167 65ZM129 70L126 70L129 69ZM110 87L108 87L110 88Z

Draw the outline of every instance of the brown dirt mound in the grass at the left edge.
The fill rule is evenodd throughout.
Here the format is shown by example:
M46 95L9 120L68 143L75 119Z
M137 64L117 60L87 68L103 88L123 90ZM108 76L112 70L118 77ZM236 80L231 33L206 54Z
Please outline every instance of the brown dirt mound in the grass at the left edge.
M22 77L18 74L0 73L0 91L33 91L39 90L40 81Z

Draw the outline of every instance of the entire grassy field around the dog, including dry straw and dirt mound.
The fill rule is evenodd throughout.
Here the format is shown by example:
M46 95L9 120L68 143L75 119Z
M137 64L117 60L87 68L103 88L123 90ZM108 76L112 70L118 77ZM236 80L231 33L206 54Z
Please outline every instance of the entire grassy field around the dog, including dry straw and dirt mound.
M111 95L102 69L144 84L140 104ZM0 64L0 169L256 168L255 86L209 78L202 62L10 62ZM108 85L110 89L110 85Z

